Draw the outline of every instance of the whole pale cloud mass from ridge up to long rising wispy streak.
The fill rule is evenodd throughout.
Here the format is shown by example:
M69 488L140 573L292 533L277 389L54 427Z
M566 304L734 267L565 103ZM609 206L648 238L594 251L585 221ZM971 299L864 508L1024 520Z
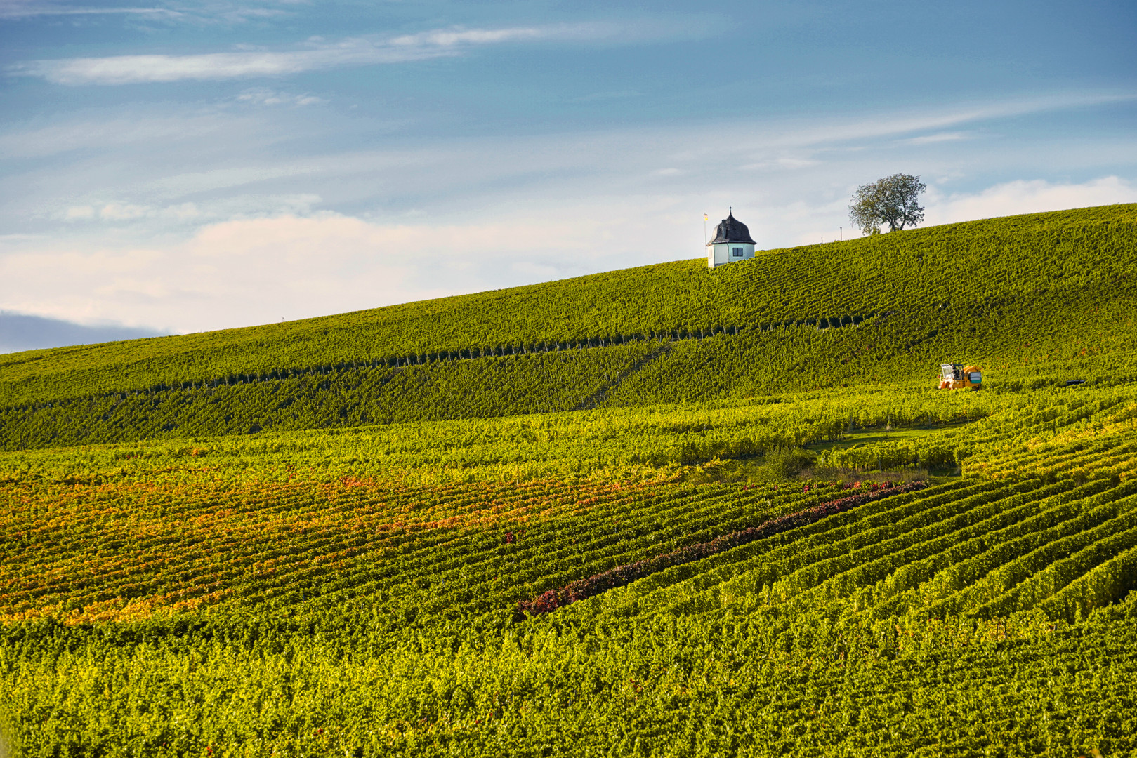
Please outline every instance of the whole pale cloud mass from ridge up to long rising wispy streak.
M384 140L382 150L331 147L304 157L259 148L277 133L294 135L304 117L324 124L334 113L275 110L272 118L232 119L232 133L236 125L244 132L229 141L213 132L186 144L155 139L144 147L163 151L161 160L146 164L144 173L118 173L133 169L141 152L127 143L98 159L67 156L52 174L17 175L0 205L6 227L41 231L44 225L26 220L40 213L51 228L0 236L0 306L182 332L342 313L696 258L705 242L703 213L717 220L728 206L760 247L815 243L837 239L848 224L853 188L897 170L920 173L931 185L926 225L1137 201L1137 176L1121 177L1129 170L1122 167L1137 166L1128 142L1098 141L1073 158L1055 152L1047 161L1059 175L1107 165L1097 172L1103 178L988 186L994 180L984 177L993 173L1039 176L1038 145L993 138L963 142L968 150L932 160L926 153L939 151L896 139L940 128L929 124L1109 97L901 117L451 139L426 147ZM912 131L898 132L903 125ZM78 140L82 125L68 128L56 133ZM114 139L109 128L93 131ZM30 132L7 144L43 140ZM215 142L224 144L211 151ZM744 170L747 165L762 169ZM339 213L317 210L329 208Z

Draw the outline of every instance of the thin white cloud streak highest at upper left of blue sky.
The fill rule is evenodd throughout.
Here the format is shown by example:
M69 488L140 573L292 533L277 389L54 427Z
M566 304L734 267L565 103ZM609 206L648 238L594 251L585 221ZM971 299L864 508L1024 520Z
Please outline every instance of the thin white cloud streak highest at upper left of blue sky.
M475 45L550 39L600 39L614 33L614 27L605 24L497 30L449 28L395 38L348 38L335 42L317 38L294 50L33 60L10 66L8 72L69 85L248 78L460 56Z

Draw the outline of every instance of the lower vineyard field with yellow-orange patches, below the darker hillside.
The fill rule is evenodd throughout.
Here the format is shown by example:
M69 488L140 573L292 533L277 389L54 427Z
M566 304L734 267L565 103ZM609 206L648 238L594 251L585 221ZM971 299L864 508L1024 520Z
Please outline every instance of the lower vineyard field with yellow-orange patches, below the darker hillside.
M0 453L0 722L28 756L1132 750L1135 416L879 388ZM683 450L888 420L965 475L514 619L841 494Z

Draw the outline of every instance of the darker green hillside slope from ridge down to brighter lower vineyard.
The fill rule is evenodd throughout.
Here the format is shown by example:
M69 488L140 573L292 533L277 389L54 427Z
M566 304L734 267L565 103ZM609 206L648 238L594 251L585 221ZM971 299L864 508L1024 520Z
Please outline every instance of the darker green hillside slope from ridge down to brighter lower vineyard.
M1014 384L1103 353L1110 376L1137 375L1120 355L1135 258L1137 206L1110 206L13 353L0 445L739 399L924 382L962 359Z

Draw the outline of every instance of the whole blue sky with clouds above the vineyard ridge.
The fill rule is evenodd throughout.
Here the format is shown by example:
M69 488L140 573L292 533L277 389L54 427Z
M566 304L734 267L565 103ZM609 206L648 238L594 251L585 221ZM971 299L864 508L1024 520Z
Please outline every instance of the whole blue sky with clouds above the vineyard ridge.
M924 225L1137 202L1135 38L1131 0L0 0L0 351L690 259L729 207L849 239L896 173Z

